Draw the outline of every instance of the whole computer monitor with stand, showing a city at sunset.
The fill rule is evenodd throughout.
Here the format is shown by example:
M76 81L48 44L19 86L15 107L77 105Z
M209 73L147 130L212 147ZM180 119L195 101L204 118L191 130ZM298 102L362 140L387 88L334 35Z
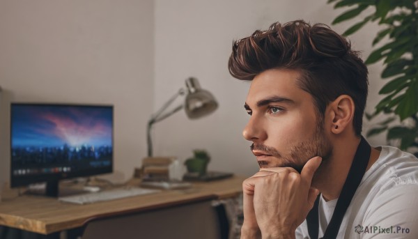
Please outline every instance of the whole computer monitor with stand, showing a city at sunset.
M58 196L61 179L111 173L113 134L111 105L11 103L10 184Z

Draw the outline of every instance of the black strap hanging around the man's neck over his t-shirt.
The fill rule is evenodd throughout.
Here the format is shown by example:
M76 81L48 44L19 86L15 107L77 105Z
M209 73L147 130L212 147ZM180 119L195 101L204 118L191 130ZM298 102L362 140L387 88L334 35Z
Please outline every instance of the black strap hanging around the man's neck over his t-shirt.
M364 173L366 173L367 164L369 163L371 153L371 146L367 143L366 139L362 137L360 144L357 147L355 152L353 163L351 164L350 171L348 171L348 176L346 182L343 185L341 194L339 195L338 201L336 201L336 206L334 213L332 214L330 224L328 224L327 229L325 230L323 239L335 239L338 235L341 222L343 217L346 214L348 206L350 206L351 199L357 190ZM311 239L318 239L319 233L319 222L318 222L318 206L319 198L315 201L314 208L309 212L307 216L307 224L309 237Z

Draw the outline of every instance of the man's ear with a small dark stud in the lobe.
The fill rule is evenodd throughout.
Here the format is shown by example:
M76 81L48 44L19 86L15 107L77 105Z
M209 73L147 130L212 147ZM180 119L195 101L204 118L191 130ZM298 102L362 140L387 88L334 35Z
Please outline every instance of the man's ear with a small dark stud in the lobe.
M350 95L340 95L328 105L331 117L331 132L340 134L347 128L353 128L355 105Z

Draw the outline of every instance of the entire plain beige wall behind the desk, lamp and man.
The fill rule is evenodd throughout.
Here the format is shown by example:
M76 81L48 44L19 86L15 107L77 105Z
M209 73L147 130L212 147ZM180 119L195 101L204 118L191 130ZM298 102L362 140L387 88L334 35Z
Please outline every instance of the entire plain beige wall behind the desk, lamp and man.
M277 21L330 25L344 10L326 0L0 0L0 183L9 178L10 102L114 105L115 171L127 179L146 157L150 115L190 76L219 109L196 121L180 111L155 124L154 155L185 160L201 148L212 156L209 170L254 174L258 165L242 138L249 82L227 69L233 40ZM332 29L343 33L355 22ZM363 59L378 30L368 24L350 37ZM381 70L369 66L369 112L380 100ZM370 126L364 121L364 132ZM384 137L369 141L385 144Z

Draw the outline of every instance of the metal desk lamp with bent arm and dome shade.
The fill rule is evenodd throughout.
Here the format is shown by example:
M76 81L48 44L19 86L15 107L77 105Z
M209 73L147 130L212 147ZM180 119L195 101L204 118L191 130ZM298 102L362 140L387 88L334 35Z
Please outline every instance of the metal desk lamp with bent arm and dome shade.
M209 91L203 90L196 78L189 77L186 79L186 86L187 89L180 88L176 95L173 95L164 105L162 105L161 109L153 114L148 121L148 157L153 157L153 141L151 139L151 128L153 127L153 124L168 118L177 111L180 111L180 109L185 109L187 117L191 119L207 116L217 109L218 104L213 95ZM179 95L186 95L184 104L164 113L167 107L169 107Z

